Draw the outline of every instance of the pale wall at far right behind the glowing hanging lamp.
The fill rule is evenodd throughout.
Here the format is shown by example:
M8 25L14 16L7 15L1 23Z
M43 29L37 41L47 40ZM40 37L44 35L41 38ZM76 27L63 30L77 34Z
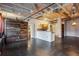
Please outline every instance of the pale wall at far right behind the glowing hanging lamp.
M65 22L65 36L79 37L79 18L75 20L77 25L72 26L72 20Z

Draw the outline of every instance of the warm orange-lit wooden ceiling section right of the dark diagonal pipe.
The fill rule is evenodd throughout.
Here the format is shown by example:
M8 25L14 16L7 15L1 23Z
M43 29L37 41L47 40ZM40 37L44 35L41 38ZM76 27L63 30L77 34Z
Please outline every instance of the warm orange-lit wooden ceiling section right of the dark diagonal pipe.
M73 17L79 17L79 4L57 4L59 6L57 9L55 9L53 12L49 11L47 13L44 13L42 17L39 17L39 19L48 18L50 21L55 20L57 17L60 18L73 18ZM74 8L73 8L74 7ZM74 9L74 15L73 15L73 9Z

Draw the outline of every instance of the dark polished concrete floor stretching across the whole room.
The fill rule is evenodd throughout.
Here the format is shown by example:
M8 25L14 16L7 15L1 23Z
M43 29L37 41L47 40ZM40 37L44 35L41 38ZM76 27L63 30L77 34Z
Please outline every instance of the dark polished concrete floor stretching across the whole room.
M57 41L60 40L57 38ZM2 56L79 56L79 38L65 37L63 43L39 39L15 42L3 47Z

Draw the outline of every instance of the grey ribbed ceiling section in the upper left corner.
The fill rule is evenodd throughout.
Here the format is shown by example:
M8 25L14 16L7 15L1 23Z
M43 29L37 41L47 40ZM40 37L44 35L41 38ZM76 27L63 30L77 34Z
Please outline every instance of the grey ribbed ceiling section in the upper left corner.
M0 8L2 10L16 13L19 15L27 16L34 9L34 4L12 4L12 3L1 3Z

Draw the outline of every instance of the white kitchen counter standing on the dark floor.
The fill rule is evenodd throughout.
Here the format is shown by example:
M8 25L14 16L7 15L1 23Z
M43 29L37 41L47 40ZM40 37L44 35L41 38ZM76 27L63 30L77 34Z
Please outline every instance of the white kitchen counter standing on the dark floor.
M50 32L50 31L36 31L36 38L48 42L52 42L55 40L55 34L54 32Z

